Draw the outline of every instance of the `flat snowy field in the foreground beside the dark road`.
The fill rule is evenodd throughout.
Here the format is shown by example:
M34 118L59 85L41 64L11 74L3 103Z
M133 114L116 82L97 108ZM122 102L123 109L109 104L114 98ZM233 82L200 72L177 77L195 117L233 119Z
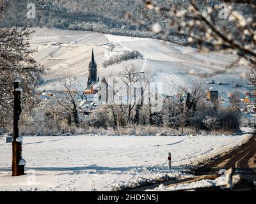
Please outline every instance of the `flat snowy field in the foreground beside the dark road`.
M113 191L181 179L189 177L188 165L224 154L250 136L26 136L28 174L22 177L11 177L12 145L1 138L0 191Z

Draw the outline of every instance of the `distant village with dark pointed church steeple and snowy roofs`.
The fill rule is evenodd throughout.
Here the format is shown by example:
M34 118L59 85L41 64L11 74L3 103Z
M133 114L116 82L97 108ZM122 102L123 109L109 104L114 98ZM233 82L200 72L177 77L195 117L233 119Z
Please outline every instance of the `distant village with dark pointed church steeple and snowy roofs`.
M106 82L102 82L99 76L97 75L97 62L95 61L94 53L92 50L92 60L89 64L89 75L87 87L84 91L78 91L76 95L76 101L78 104L79 115L87 116L90 113L98 108L102 104L106 104ZM205 88L207 91L207 96L205 98L208 103L214 103L223 108L227 108L232 105L236 105L239 113L241 114L241 126L254 126L256 122L256 91L255 85L256 82L253 82L255 79L255 74L252 73L249 80L248 87L250 87L251 91L242 92L242 91L234 91L227 92L222 91L219 87L223 87L225 85L230 85L225 82L215 82L212 80L211 82L202 82L205 84ZM234 82L232 87L237 88L240 85ZM61 92L59 92L61 94ZM102 96L104 95L104 96ZM38 91L36 92L36 98L47 101L54 96L54 92L52 91ZM103 99L104 98L104 99ZM186 98L186 93L182 96L179 94L175 96L167 96L164 95L163 98L173 98L180 99ZM108 102L108 101L107 101Z

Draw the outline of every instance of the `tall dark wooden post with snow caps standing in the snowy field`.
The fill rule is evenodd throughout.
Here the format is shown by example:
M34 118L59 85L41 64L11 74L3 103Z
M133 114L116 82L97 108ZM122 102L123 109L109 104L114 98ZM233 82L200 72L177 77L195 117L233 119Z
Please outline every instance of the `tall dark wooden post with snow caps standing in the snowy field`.
M13 89L13 142L12 142L12 176L24 175L24 159L22 159L22 140L19 138L19 126L18 122L21 113L21 101L20 94L22 89L19 88L20 80L15 80Z

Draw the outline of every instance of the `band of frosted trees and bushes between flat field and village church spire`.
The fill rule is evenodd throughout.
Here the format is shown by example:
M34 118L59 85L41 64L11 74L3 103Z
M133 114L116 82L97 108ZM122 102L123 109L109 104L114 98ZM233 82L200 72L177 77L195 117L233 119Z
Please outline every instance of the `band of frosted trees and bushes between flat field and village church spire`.
M175 96L166 96L154 92L154 76L140 73L139 69L127 66L118 76L112 76L113 82L102 79L99 94L106 94L108 87L122 83L124 89L108 89L108 101L95 109L79 109L79 97L72 91L75 78L61 79L65 91L56 92L47 101L38 101L31 113L25 112L21 117L21 133L25 135L61 135L63 133L133 133L143 129L143 133L200 133L201 131L232 132L239 129L239 111L234 104L221 108L218 103L206 100L206 91L200 84L177 87ZM143 82L142 85L140 82ZM140 84L136 86L136 84ZM136 88L135 88L136 87ZM135 89L137 94L135 93ZM148 94L143 94L148 92ZM134 100L134 97L137 97ZM155 98L161 99L156 109ZM116 103L115 98L121 98ZM155 100L157 101L157 100ZM144 127L144 128L142 128ZM131 131L131 129L133 129ZM154 131L152 131L154 129ZM89 131L90 130L90 131ZM123 130L120 132L120 130ZM127 131L125 131L127 130ZM130 131L128 131L130 130ZM189 132L188 132L189 130Z

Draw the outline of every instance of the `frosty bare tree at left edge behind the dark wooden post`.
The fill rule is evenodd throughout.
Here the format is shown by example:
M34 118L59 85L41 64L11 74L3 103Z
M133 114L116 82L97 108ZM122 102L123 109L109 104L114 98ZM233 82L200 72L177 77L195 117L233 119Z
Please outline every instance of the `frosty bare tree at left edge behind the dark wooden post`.
M0 22L3 22L4 8L0 8ZM33 94L43 69L32 55L36 50L29 45L29 36L33 31L27 27L0 26L0 129L6 129L12 121L13 82L21 80L22 105L26 110L33 106Z

